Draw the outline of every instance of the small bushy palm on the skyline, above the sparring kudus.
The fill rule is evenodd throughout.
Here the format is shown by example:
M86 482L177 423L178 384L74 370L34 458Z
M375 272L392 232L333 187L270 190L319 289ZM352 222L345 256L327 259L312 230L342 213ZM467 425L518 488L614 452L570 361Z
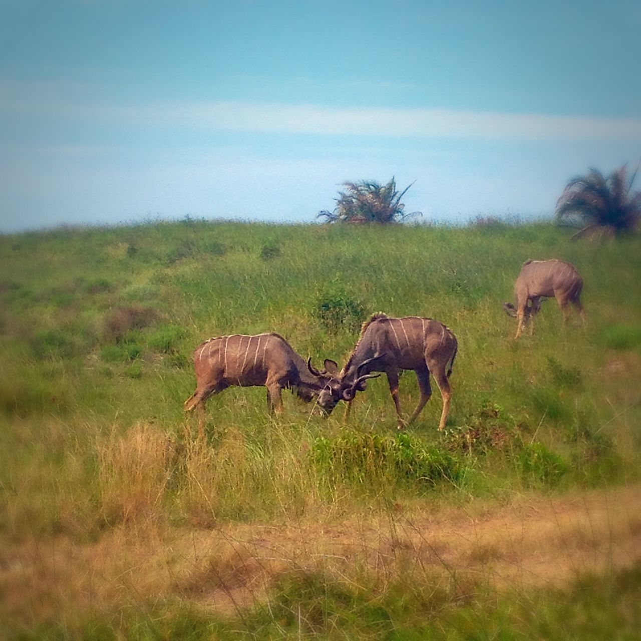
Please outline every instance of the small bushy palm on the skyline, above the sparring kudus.
M408 217L422 215L420 212L405 213L401 198L414 183L397 192L396 181L392 178L387 185L362 180L358 183L342 183L344 192L338 192L333 212L324 210L317 217L324 217L327 222L351 222L353 224L391 224L401 222Z

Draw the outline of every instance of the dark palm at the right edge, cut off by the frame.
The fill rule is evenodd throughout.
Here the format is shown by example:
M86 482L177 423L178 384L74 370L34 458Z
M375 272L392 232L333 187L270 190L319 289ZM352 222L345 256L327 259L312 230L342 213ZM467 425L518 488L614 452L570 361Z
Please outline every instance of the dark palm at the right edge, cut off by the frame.
M641 163L639 163L641 165ZM572 178L556 203L556 217L583 227L572 236L616 236L634 229L641 220L641 192L631 193L639 165L629 179L627 165L604 178L590 168L587 176Z

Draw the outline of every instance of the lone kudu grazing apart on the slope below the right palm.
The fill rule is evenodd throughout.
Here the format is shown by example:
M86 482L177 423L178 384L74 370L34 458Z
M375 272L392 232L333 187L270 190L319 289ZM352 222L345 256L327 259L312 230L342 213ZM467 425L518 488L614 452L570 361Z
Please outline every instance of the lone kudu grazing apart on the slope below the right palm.
M576 267L562 260L526 260L514 283L516 307L511 303L503 303L503 309L508 315L519 320L516 338L523 331L526 319L533 317L541 308L541 299L554 296L563 312L563 322L569 316L568 303L572 303L585 322L585 312L579 297L583 288L583 278ZM528 302L531 303L528 306Z

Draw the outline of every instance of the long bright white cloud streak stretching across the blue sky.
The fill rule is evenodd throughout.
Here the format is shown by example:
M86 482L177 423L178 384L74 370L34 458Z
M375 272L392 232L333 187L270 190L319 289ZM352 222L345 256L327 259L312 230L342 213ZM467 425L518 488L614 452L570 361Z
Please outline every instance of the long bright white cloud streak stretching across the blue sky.
M158 105L144 110L135 108L128 113L158 124L222 131L504 140L641 140L641 119L637 118L232 101Z

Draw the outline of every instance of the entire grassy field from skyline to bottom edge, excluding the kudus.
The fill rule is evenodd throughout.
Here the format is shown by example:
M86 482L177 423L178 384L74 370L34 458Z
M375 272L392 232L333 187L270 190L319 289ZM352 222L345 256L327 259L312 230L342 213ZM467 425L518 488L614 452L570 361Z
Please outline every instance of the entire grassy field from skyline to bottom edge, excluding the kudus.
M634 638L641 246L569 236L186 219L0 237L6 637ZM576 265L587 326L547 301L514 340L501 303L528 258ZM383 377L347 422L229 388L196 438L199 342L277 331L342 365L378 311L458 338L444 433L435 388L397 434ZM412 372L400 386L410 412Z

